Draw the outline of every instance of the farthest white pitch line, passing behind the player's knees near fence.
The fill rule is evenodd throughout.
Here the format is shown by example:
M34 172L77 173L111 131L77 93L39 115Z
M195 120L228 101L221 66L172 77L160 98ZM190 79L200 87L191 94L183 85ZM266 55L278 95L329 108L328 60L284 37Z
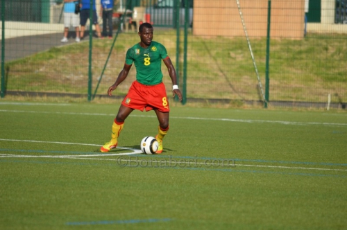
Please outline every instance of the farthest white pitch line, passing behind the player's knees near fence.
M22 112L22 113L37 113L37 114L70 114L70 115L87 115L87 116L115 116L115 114L92 114L92 113L75 113L75 112L37 112L37 111L24 111L24 110L8 110L0 109L0 112ZM137 117L153 117L146 115L130 115ZM190 120L203 120L203 121L229 121L229 122L240 122L240 123L273 123L282 125L328 125L328 126L340 126L347 127L347 123L321 123L321 122L297 122L297 121L267 121L267 120L249 120L249 119L230 119L230 118L199 118L199 117L180 117L171 116L170 118L176 119L190 119Z

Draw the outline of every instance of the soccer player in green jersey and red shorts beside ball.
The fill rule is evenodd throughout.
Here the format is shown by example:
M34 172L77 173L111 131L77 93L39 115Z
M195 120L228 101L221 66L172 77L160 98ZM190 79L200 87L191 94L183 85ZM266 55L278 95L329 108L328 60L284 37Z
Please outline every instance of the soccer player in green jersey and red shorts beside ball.
M116 82L108 88L108 95L126 79L133 63L136 67L136 80L130 86L128 94L121 102L118 114L112 124L111 141L101 146L101 152L108 152L117 147L118 137L123 129L124 121L134 109L140 111L154 110L157 115L159 126L158 134L155 136L159 143L156 154L162 153L162 139L169 130L169 101L167 93L162 82L162 60L169 71L172 81L172 96L177 95L182 100L182 94L178 89L176 70L170 57L167 55L167 49L160 43L152 41L153 26L144 23L139 26L138 35L140 42L128 49L126 52L126 62L118 75Z

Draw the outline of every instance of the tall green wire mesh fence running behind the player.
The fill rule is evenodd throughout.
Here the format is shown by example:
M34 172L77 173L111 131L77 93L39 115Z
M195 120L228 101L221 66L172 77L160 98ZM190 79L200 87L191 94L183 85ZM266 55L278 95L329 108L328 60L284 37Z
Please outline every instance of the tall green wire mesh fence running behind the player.
M142 7L137 23L151 22L154 40L167 47L185 103L265 100L274 107L346 107L344 0L123 0L114 8L112 39L97 39L93 30L81 42L75 42L74 28L69 42L60 42L60 2L1 2L2 98L101 100L123 67L126 50L139 42L134 12ZM99 13L99 0L96 9ZM99 24L103 28L101 17ZM171 94L164 65L162 71ZM133 80L135 68L116 97L123 97Z

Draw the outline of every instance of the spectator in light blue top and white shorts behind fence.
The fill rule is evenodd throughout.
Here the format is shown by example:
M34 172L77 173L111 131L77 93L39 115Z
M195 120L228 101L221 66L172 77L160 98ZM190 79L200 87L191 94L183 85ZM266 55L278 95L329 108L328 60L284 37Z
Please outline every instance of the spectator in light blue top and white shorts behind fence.
M69 27L72 25L76 30L76 42L80 42L80 17L78 12L75 13L76 0L64 0L64 37L61 42L68 42L67 35L69 34Z

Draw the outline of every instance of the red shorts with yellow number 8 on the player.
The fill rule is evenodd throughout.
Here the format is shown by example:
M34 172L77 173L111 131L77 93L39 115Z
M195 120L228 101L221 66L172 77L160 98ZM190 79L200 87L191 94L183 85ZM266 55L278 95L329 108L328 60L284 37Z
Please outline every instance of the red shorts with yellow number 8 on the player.
M135 80L121 104L141 111L144 109L146 111L151 109L158 109L160 112L170 111L163 82L158 85L142 85Z

